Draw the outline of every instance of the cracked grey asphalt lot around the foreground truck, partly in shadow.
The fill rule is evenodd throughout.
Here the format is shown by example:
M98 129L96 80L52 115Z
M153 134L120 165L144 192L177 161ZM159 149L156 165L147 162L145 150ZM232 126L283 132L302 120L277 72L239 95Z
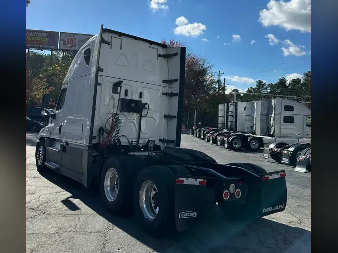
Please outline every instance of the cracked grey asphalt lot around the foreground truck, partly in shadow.
M271 163L262 152L233 152L182 134L182 147L203 151L219 163L252 162L267 171L286 170L288 203L284 212L251 223L228 221L215 207L194 229L154 239L132 216L115 217L100 203L97 190L51 171L36 171L37 133L27 133L27 252L310 252L311 174Z

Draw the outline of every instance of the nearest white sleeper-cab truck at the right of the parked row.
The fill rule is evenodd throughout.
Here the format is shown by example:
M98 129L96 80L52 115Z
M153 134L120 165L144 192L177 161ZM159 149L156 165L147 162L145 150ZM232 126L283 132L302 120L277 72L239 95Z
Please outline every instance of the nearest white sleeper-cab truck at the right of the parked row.
M305 105L282 98L262 99L250 105L245 117L245 130L226 135L224 147L238 151L258 151L274 142L289 145L311 140L311 110ZM235 114L236 117L240 115ZM253 115L253 116L252 116ZM251 126L250 126L251 125ZM236 126L236 125L235 125Z

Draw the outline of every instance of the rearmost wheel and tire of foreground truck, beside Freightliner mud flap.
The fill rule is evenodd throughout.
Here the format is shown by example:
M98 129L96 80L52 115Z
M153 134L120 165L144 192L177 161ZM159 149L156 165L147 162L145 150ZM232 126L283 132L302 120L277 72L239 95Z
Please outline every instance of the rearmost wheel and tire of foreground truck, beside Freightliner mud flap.
M175 177L165 166L149 166L140 172L134 187L134 213L146 233L158 237L175 230L174 193Z

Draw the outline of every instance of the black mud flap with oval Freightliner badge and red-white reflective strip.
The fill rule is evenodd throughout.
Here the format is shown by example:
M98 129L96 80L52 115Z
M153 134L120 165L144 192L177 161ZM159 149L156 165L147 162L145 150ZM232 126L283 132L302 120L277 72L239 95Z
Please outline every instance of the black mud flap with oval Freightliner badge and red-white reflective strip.
M188 230L216 204L215 188L203 185L204 183L198 184L200 181L203 182L201 179L196 181L178 178L176 180L175 224L179 232Z

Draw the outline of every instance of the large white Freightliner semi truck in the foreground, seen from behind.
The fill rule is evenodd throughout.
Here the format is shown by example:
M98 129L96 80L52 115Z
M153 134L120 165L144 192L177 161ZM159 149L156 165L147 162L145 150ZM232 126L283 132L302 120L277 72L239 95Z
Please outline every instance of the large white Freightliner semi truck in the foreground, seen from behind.
M39 135L36 166L90 187L114 215L133 212L149 234L189 229L216 202L228 218L285 210L285 170L219 164L181 148L185 47L172 48L104 28L78 51L49 124Z

